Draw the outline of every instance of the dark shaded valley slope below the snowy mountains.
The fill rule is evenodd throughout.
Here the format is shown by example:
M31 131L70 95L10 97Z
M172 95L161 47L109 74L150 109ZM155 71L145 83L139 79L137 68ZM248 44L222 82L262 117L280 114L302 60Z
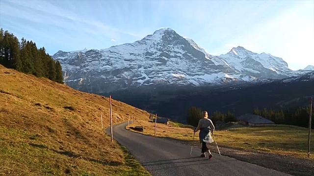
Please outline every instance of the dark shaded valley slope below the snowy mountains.
M110 94L134 107L186 123L187 110L193 106L209 111L210 115L216 110L223 113L231 110L235 115L242 115L252 113L257 107L281 110L309 106L309 98L314 96L313 89L314 71L259 84L178 88L164 86L150 91L136 88Z

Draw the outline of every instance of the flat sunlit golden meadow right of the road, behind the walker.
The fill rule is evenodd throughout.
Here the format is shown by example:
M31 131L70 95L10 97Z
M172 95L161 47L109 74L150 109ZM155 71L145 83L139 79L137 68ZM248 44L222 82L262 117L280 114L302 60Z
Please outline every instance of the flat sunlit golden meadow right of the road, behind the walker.
M130 127L143 126L143 134L155 136L155 123L147 120L136 121ZM157 123L157 137L169 137L183 141L192 141L194 127L176 128ZM308 129L288 125L269 127L244 127L215 131L218 146L264 151L274 154L287 154L298 158L307 158ZM195 135L198 141L198 132ZM215 144L212 144L215 145ZM314 140L311 140L314 146ZM313 152L312 152L313 153ZM314 160L314 155L310 156Z

